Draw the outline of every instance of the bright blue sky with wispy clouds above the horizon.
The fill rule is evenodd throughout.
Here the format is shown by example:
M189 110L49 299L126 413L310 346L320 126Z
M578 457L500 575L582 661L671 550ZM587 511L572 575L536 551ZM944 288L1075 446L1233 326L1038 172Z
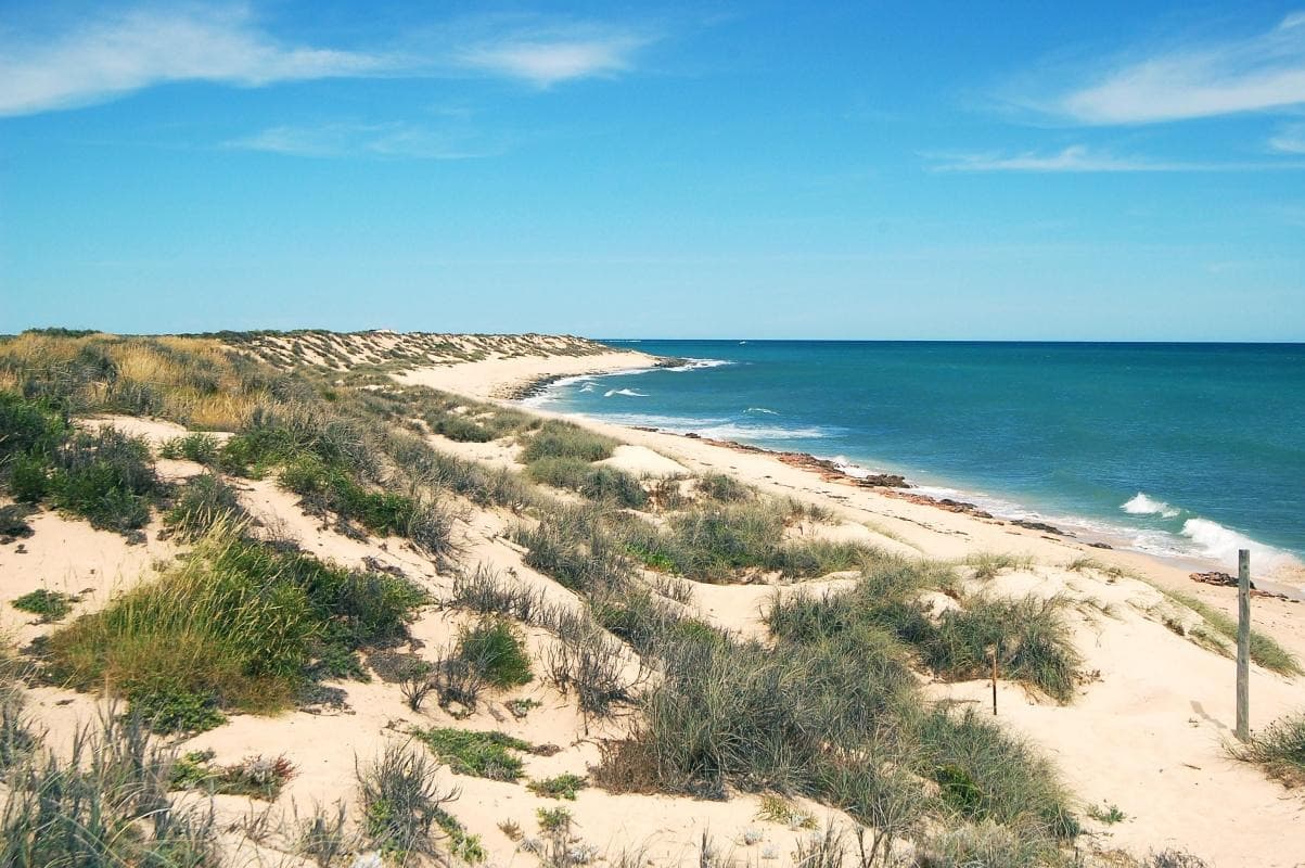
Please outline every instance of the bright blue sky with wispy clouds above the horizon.
M52 324L1302 341L1305 4L0 0Z

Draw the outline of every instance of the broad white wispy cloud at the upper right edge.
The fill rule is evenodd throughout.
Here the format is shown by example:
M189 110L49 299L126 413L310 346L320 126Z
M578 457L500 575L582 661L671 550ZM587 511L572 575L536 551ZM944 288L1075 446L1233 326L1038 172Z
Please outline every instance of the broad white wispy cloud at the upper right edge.
M1141 51L1034 103L1083 124L1151 124L1305 103L1305 13L1224 40Z

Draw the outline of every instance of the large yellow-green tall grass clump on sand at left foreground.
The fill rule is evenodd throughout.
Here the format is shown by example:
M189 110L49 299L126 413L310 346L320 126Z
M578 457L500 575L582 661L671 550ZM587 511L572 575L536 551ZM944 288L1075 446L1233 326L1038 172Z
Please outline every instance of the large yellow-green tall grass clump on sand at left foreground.
M56 632L47 668L123 693L161 731L207 728L219 710L286 707L311 676L360 672L356 650L401 636L423 600L407 580L219 525L161 578Z

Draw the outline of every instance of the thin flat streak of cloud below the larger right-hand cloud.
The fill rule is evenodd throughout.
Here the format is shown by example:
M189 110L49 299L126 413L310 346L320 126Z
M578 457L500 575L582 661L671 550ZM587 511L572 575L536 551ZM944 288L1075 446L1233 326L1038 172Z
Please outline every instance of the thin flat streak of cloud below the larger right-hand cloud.
M934 153L921 157L932 162L929 168L936 172L1235 172L1301 168L1301 163L1284 162L1194 163L1118 157L1084 145L1070 145L1053 153Z

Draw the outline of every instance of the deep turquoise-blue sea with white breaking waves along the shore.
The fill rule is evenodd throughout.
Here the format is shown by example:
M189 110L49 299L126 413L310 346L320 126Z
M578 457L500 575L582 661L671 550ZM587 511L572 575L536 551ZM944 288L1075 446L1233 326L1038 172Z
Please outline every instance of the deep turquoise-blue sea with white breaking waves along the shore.
M1257 573L1305 559L1305 345L609 341L696 360L534 403L893 470Z

